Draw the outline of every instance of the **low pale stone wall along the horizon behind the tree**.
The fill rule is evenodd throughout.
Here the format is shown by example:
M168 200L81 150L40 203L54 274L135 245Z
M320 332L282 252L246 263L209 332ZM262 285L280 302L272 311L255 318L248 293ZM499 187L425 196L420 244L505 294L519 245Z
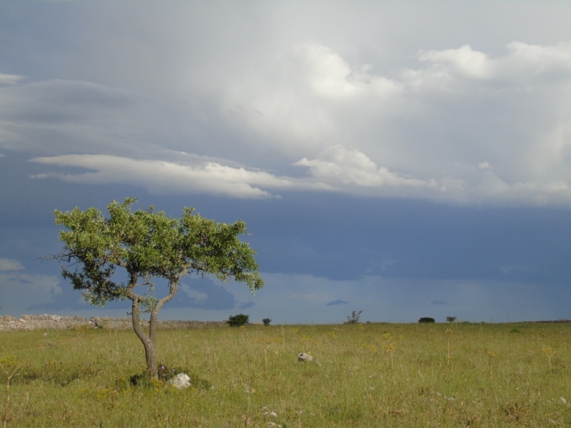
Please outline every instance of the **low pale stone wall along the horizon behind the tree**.
M148 322L141 322L148 327ZM104 328L127 330L133 328L131 318L113 317L60 317L59 315L22 315L20 319L9 315L0 316L0 331L9 330L68 330L73 328ZM160 329L228 327L226 321L168 321L159 320ZM85 328L85 327L84 327Z

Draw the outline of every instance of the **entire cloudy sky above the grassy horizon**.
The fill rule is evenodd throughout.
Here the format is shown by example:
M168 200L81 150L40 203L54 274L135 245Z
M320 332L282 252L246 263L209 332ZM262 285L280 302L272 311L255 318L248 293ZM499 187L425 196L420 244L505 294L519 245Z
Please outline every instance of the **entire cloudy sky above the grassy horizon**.
M46 258L132 196L266 282L163 319L571 319L570 100L568 1L0 1L0 315L126 316Z

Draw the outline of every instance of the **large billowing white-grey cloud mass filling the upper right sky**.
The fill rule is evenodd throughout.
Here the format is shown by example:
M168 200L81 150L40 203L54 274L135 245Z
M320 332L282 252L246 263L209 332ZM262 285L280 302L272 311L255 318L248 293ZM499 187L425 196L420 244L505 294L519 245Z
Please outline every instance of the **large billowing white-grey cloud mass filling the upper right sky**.
M468 45L423 51L417 68L389 78L327 46L298 44L243 78L223 101L223 114L246 138L302 159L298 165L315 177L333 174L320 153L350 145L380 167L373 178L343 165L342 182L415 177L476 188L486 177L458 175L455 165L485 159L509 186L552 189L571 173L570 46L507 48L496 57ZM525 192L518 194L525 203Z

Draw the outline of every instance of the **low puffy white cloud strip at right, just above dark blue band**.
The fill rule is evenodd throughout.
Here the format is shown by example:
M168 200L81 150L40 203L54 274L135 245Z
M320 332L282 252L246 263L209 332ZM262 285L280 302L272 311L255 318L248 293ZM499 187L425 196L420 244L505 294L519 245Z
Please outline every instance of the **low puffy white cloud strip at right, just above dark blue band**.
M353 194L428 198L462 205L571 203L571 185L565 180L509 183L492 172L488 162L468 168L475 173L472 177L421 180L379 167L355 148L333 146L315 159L303 158L294 165L308 167L311 177L318 183Z

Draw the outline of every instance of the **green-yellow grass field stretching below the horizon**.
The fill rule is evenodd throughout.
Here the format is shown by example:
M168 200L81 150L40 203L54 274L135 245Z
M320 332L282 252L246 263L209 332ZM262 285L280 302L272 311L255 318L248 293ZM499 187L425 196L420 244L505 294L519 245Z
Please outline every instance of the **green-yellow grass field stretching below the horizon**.
M312 363L299 363L310 352ZM571 427L571 324L0 332L4 427ZM10 374L14 373L8 382Z

